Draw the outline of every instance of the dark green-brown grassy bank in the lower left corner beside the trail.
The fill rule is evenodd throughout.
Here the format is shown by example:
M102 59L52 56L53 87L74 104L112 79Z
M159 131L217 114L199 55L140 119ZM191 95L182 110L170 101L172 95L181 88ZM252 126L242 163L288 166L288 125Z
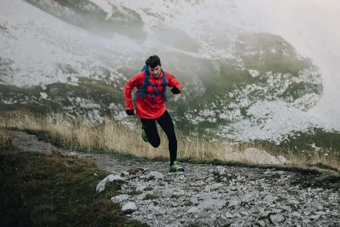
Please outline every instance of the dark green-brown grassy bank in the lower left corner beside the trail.
M109 173L89 160L55 152L20 152L10 140L2 139L0 145L3 226L145 226L127 220L119 204L111 202L122 182L106 184L104 192L95 193Z

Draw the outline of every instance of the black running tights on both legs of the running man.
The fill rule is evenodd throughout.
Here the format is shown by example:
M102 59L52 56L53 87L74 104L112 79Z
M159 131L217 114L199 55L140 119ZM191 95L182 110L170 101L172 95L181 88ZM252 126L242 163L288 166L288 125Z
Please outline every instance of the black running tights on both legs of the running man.
M177 139L175 135L175 130L173 127L172 119L166 110L162 116L156 119L140 118L142 122L142 127L144 128L145 134L148 137L148 141L153 147L159 147L160 138L157 132L156 121L160 127L164 130L165 134L169 140L169 152L170 152L170 166L177 157Z

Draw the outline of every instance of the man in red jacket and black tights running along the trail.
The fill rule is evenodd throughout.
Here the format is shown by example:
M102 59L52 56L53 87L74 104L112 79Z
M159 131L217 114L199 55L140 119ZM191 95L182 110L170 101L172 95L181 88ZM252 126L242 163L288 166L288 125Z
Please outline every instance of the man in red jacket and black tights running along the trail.
M169 140L170 170L184 171L176 161L177 139L172 119L164 105L166 101L166 87L171 87L173 94L181 93L180 82L170 73L163 71L157 55L150 56L145 61L142 71L135 74L124 86L125 112L134 115L131 92L137 87L135 94L136 115L142 123L142 139L157 148L160 138L156 128L156 121L162 127Z

